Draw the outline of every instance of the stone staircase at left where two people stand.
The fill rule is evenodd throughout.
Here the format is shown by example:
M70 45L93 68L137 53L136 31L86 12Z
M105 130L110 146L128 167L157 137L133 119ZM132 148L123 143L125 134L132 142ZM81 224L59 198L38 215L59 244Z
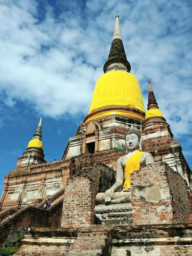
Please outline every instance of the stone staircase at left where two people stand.
M49 207L50 210L59 200L62 199L64 192L65 192L65 188L63 187L59 191L57 191L55 194L53 194L52 196L49 196L49 198L52 202L51 207ZM36 207L38 209L42 209L43 205L44 205L44 200L41 203L38 203L38 204L35 204L35 205L32 205L32 206ZM8 218L11 218L11 216L13 214L15 214L16 212L19 213L20 211L23 211L23 209L25 209L26 207L28 207L28 205L22 207L21 209L17 209L17 208L14 208L14 207L8 207L8 208L2 210L0 212L0 225L3 225Z

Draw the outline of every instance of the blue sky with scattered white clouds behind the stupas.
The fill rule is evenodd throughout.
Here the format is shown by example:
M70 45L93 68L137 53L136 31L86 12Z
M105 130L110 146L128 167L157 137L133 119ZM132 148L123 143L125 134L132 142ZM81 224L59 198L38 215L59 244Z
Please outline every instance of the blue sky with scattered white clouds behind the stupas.
M88 113L118 11L145 106L148 81L191 160L191 1L1 1L0 189L43 116L45 159L60 160Z

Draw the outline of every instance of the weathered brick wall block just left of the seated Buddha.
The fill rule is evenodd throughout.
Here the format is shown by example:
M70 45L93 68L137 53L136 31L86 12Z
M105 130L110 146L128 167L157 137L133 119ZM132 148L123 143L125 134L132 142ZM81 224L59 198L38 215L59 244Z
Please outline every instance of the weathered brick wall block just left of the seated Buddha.
M61 227L79 227L94 223L96 194L105 191L112 183L101 175L113 173L108 166L97 163L68 178L63 197ZM108 175L106 175L108 176Z

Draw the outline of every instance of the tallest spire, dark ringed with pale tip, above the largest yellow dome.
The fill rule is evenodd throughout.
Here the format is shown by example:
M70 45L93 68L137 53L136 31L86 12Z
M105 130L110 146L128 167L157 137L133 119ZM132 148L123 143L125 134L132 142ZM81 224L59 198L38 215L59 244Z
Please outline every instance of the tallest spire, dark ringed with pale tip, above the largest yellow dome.
M123 42L121 38L121 31L119 26L119 15L116 15L115 29L113 34L113 40L107 62L103 67L104 73L114 70L120 70L130 72L131 65L127 61Z

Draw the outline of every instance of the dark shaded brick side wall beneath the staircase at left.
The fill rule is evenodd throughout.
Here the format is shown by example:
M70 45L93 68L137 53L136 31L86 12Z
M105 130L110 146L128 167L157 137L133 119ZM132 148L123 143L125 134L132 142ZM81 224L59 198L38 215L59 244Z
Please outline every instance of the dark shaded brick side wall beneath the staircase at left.
M62 202L58 202L51 210L38 209L28 206L16 212L0 226L0 246L7 241L7 238L12 230L17 230L20 227L36 226L36 227L60 227Z

